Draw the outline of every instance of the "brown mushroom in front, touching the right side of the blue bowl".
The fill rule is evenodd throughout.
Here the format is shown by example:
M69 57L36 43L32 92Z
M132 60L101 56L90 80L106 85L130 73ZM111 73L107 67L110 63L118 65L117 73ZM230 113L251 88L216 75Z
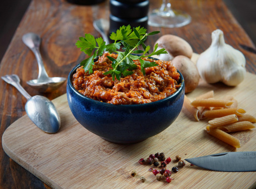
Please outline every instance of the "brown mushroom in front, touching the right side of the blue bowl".
M198 86L200 79L196 64L183 55L176 56L172 62L184 78L185 93L193 91Z

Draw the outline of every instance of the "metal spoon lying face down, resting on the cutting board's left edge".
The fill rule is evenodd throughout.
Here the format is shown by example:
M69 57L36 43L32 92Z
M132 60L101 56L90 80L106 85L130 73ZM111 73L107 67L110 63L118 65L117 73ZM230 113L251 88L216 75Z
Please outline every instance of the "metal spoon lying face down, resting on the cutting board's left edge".
M6 75L1 77L7 83L13 85L28 100L25 110L30 120L41 130L47 133L56 133L60 128L60 117L54 104L46 97L36 95L31 97L29 93L19 84L17 75Z

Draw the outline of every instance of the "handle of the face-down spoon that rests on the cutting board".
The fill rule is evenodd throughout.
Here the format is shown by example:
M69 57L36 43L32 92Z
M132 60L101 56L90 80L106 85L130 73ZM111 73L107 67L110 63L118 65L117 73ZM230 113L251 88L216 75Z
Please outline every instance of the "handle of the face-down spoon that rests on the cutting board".
M15 74L12 75L6 75L6 76L2 76L1 77L5 82L13 85L16 89L18 89L18 91L20 93L22 93L22 95L29 100L31 98L31 96L29 95L29 93L22 87L22 85L19 84L20 80L19 77Z

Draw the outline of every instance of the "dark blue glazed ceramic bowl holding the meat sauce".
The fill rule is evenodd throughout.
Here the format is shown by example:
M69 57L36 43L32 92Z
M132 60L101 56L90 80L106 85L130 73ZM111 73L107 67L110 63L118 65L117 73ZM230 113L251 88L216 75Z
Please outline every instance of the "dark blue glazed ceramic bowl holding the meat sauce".
M112 143L131 144L154 136L169 127L179 115L184 101L184 79L171 96L147 104L113 105L83 96L72 85L69 74L67 97L76 120L86 129Z

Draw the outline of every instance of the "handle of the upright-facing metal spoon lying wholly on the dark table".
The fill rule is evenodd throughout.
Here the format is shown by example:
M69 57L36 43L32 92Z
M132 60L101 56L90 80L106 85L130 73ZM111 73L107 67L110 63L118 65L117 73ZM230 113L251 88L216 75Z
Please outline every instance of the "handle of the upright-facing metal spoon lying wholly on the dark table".
M28 48L34 53L35 58L38 63L38 82L44 82L49 78L44 63L42 62L42 57L39 51L39 46L41 43L40 37L35 33L27 33L22 37L23 42L28 46Z

